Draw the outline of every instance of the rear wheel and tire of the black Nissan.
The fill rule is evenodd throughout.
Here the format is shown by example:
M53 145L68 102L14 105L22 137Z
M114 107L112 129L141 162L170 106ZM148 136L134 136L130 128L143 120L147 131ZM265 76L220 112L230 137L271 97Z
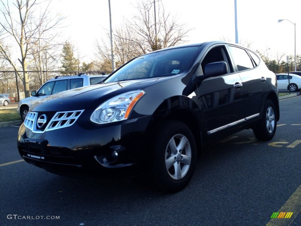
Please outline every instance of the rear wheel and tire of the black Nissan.
M253 133L258 140L271 140L276 132L277 111L271 100L265 101L262 119L253 128Z

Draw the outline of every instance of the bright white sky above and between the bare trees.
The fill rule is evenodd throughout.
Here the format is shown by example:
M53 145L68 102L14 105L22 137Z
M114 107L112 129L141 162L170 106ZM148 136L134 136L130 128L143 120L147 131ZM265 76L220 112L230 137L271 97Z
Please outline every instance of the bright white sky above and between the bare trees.
M137 14L136 0L111 0L113 30ZM187 43L221 40L235 42L234 0L162 0L164 8L178 15L178 22L191 31ZM63 38L76 44L86 62L93 58L95 40L101 40L109 24L108 0L53 0L53 12L67 18ZM277 52L294 55L294 25L296 23L296 52L301 54L301 17L299 0L237 0L238 38L251 42L251 48L269 57ZM268 50L267 50L268 49Z

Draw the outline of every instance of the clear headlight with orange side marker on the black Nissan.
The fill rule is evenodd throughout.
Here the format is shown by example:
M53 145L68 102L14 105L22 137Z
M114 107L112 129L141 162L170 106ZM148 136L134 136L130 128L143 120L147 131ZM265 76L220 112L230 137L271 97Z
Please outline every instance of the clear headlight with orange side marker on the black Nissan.
M136 102L145 94L143 90L135 90L115 96L99 105L90 116L97 124L116 122L129 117Z

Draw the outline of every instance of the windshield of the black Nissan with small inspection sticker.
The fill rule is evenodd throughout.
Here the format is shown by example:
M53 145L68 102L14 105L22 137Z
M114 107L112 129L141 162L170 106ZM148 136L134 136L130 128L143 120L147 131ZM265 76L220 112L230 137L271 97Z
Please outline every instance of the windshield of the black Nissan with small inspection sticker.
M140 56L120 68L104 82L163 77L182 73L198 48L167 49Z

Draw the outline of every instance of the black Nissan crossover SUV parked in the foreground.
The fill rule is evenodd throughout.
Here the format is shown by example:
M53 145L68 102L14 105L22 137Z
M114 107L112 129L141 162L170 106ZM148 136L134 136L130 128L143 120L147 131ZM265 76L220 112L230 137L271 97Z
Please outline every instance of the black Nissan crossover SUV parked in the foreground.
M276 77L256 52L204 42L139 56L102 84L49 96L30 109L17 145L52 173L145 166L157 187L175 192L202 145L250 128L270 140L278 120Z

